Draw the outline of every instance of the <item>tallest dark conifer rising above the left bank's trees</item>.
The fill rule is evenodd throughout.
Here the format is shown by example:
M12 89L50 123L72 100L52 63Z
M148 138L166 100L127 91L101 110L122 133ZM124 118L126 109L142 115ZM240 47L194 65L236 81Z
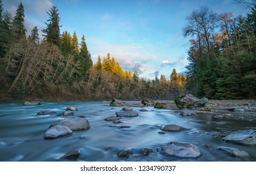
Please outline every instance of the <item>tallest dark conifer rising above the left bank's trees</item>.
M45 22L46 28L42 30L44 33L43 36L48 42L52 42L57 46L60 46L60 17L58 13L58 9L56 6L52 6L47 12L50 16L50 19L47 20L48 23Z

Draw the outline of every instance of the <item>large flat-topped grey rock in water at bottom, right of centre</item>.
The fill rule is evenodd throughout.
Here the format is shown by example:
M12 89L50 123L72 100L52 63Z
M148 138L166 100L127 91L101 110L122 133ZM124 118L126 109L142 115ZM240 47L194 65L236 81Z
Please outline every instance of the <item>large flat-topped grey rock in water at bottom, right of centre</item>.
M183 142L168 142L161 145L158 151L162 155L181 158L197 158L201 155L201 152L196 145Z

